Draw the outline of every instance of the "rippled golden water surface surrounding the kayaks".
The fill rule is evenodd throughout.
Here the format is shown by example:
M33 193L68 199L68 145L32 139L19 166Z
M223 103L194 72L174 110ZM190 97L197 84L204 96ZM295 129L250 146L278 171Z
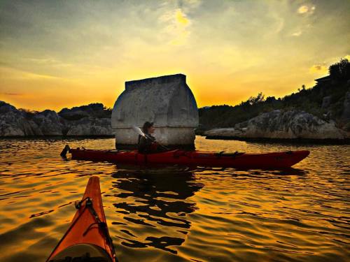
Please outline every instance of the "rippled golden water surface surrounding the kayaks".
M101 180L123 261L349 261L350 146L196 138L200 150L308 149L288 171L138 169L67 161L64 145L113 139L0 140L0 261L45 261L90 175Z

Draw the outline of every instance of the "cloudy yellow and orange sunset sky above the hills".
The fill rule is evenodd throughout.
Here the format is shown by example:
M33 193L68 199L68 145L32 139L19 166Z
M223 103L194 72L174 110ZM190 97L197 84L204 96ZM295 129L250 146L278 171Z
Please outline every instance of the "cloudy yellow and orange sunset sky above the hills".
M349 13L349 0L0 0L0 100L112 107L125 81L174 73L199 107L284 96L350 58Z

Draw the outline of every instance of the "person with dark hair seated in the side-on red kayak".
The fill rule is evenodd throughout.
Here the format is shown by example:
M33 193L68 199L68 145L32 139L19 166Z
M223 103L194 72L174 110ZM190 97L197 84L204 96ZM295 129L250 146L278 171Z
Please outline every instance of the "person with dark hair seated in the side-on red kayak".
M155 141L155 137L152 134L155 131L153 122L145 122L142 127L142 131L146 136L139 135L138 150L141 154L150 154L164 152L167 150L166 147L160 145Z

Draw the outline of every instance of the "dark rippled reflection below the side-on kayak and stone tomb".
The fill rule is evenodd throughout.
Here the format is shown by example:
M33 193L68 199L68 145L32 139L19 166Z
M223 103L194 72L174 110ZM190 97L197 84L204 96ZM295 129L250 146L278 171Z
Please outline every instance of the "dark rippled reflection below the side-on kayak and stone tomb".
M195 182L193 170L124 169L112 177L116 178L113 187L119 193L109 196L116 198L113 205L116 212L124 214L125 221L112 223L125 226L120 230L124 236L118 236L123 240L121 244L132 248L155 247L176 254L169 247L185 241L184 235L191 226L186 215L197 209L196 203L188 198L203 187ZM142 230L137 229L140 226ZM137 232L144 236L138 237Z

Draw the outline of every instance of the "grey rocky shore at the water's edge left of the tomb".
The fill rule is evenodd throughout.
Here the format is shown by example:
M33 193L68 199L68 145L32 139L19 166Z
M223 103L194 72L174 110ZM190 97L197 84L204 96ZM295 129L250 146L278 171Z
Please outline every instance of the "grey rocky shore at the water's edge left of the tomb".
M110 112L102 104L29 112L0 101L0 137L113 136Z

